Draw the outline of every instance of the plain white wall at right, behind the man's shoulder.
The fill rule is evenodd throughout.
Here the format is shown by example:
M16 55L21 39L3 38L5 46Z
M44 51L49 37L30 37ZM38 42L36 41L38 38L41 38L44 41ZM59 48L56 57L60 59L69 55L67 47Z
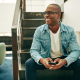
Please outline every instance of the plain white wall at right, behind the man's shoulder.
M62 22L74 28L80 45L80 0L68 0L64 4Z

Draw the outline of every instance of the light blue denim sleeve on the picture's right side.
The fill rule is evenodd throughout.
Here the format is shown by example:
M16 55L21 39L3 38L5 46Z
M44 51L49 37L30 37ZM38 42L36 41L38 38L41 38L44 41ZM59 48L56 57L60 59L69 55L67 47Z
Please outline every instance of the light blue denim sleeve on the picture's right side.
M71 33L71 38L69 41L69 48L70 48L71 53L65 58L67 60L66 67L69 66L71 63L75 62L80 56L80 47L77 42L74 29L72 30L72 33Z

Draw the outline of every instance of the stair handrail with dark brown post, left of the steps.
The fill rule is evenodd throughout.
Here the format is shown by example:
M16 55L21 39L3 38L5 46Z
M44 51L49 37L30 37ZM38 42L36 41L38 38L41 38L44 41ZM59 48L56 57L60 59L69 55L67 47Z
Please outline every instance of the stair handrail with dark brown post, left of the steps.
M21 21L22 12L25 10L25 0L16 0L14 17L12 22L12 57L13 57L13 80L19 80L18 54L21 50ZM19 56L20 57L20 56Z

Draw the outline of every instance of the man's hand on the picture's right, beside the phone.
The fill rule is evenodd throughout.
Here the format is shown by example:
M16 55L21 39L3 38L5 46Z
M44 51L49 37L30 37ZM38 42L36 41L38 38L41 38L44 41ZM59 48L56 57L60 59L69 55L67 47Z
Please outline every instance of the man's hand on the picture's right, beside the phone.
M54 60L54 62L58 62L58 64L56 65L52 65L52 67L50 67L49 69L59 69L61 68L63 65L66 65L67 64L67 61L66 59L60 59L60 58L57 58Z

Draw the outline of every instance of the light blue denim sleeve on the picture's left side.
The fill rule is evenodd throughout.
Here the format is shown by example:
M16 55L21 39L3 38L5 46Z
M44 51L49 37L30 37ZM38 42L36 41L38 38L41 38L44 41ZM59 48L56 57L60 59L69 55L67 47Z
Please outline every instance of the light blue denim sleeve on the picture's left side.
M40 34L41 34L40 33L40 29L38 27L36 29L35 33L34 33L34 37L33 37L33 41L32 41L32 46L31 46L31 49L30 49L31 57L38 64L39 64L40 58L42 58L41 55L40 55L40 48L41 48Z

